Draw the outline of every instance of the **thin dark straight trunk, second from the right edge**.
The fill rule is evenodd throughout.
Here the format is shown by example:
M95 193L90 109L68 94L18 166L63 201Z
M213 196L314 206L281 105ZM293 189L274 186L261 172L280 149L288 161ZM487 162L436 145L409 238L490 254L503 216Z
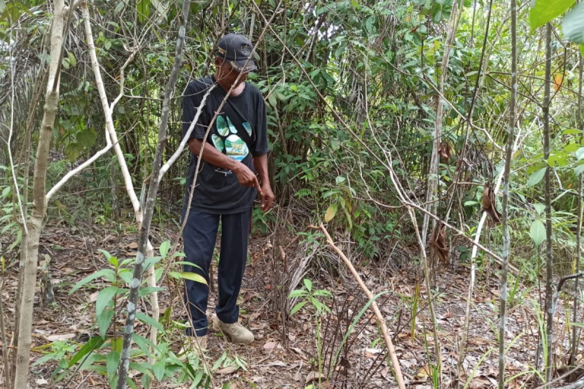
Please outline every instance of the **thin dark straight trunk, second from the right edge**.
M544 85L544 161L550 157L550 86L551 86L551 24L545 27L545 85ZM552 259L551 246L551 167L545 167L545 339L546 339L546 359L545 359L545 383L551 380L552 372L552 342L554 315L552 310L552 282L554 276L554 262Z

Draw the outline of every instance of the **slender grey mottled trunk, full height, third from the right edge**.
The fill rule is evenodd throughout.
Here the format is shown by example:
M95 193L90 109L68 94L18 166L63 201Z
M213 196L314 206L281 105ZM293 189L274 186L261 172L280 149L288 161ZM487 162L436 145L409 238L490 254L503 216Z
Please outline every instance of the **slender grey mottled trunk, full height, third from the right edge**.
M509 134L505 149L505 170L503 172L503 266L500 285L499 309L499 389L505 389L505 322L507 315L507 268L509 267L509 176L515 133L515 105L517 100L517 2L511 0L511 97L509 100Z

